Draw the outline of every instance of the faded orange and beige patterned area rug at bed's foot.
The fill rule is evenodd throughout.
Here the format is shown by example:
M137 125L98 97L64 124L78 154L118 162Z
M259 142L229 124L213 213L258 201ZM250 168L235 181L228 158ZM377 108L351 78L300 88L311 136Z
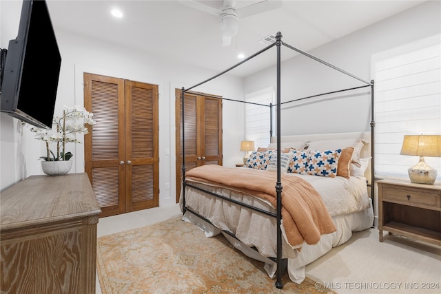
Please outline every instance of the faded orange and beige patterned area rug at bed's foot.
M280 290L263 262L180 218L98 238L97 262L106 294L334 293L308 278L295 284L287 273Z

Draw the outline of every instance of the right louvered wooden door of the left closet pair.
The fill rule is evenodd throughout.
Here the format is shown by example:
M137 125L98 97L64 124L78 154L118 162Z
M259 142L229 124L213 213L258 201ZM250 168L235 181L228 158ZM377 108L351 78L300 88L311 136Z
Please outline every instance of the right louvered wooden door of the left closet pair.
M127 211L158 207L158 86L125 81Z

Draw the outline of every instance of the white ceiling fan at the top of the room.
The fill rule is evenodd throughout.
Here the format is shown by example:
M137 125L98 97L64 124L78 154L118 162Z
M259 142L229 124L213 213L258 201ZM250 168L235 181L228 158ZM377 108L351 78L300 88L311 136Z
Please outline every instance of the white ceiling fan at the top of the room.
M239 17L249 17L254 14L267 12L282 7L282 1L276 0L220 0L220 1L196 1L181 0L180 3L220 17L220 29L222 31L222 46L229 46L232 37L239 31ZM236 8L238 6L238 8Z

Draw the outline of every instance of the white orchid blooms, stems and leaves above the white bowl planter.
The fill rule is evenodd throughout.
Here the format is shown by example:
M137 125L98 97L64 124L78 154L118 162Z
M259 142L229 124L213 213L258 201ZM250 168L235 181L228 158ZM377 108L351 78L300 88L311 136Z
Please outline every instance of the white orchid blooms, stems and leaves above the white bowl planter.
M30 131L35 133L37 140L46 143L46 156L41 156L45 161L69 160L73 154L65 152L65 144L81 143L75 138L75 134L88 134L89 130L85 125L95 124L95 120L92 119L94 114L88 112L84 107L76 105L65 107L67 110L63 110L63 116L54 116L52 129L30 128ZM50 143L57 143L57 154L50 150Z

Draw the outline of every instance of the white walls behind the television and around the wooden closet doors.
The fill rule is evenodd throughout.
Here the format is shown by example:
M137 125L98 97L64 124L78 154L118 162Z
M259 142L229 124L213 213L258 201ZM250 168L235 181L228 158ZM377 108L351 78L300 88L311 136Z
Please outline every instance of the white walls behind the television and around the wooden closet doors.
M0 47L7 48L8 41L17 35L21 1L13 3L6 1L6 5L3 5L1 1L0 7L2 13ZM10 17L3 21L3 14L8 14ZM12 15L14 17L11 17ZM159 202L161 207L174 204L176 202L174 89L195 85L217 73L160 59L148 52L88 39L57 30L57 28L55 31L62 58L56 113L63 109L63 105L83 105L83 72L158 85L159 185L161 189ZM224 75L194 90L241 100L244 96L243 78ZM43 87L36 90L37 96L43 94ZM240 104L223 102L223 164L225 166L232 167L242 160L243 154L239 151L239 142L243 138L242 114L243 107ZM0 189L3 190L30 175L43 174L41 164L37 159L45 154L45 145L41 141L34 140L33 134L28 129L23 129L17 123L17 119L7 114L0 114L0 118ZM75 147L69 144L68 148L74 153L74 165L71 172L83 172L83 144L77 144ZM170 155L165 154L166 149L170 150ZM165 189L166 183L170 184L170 189Z

